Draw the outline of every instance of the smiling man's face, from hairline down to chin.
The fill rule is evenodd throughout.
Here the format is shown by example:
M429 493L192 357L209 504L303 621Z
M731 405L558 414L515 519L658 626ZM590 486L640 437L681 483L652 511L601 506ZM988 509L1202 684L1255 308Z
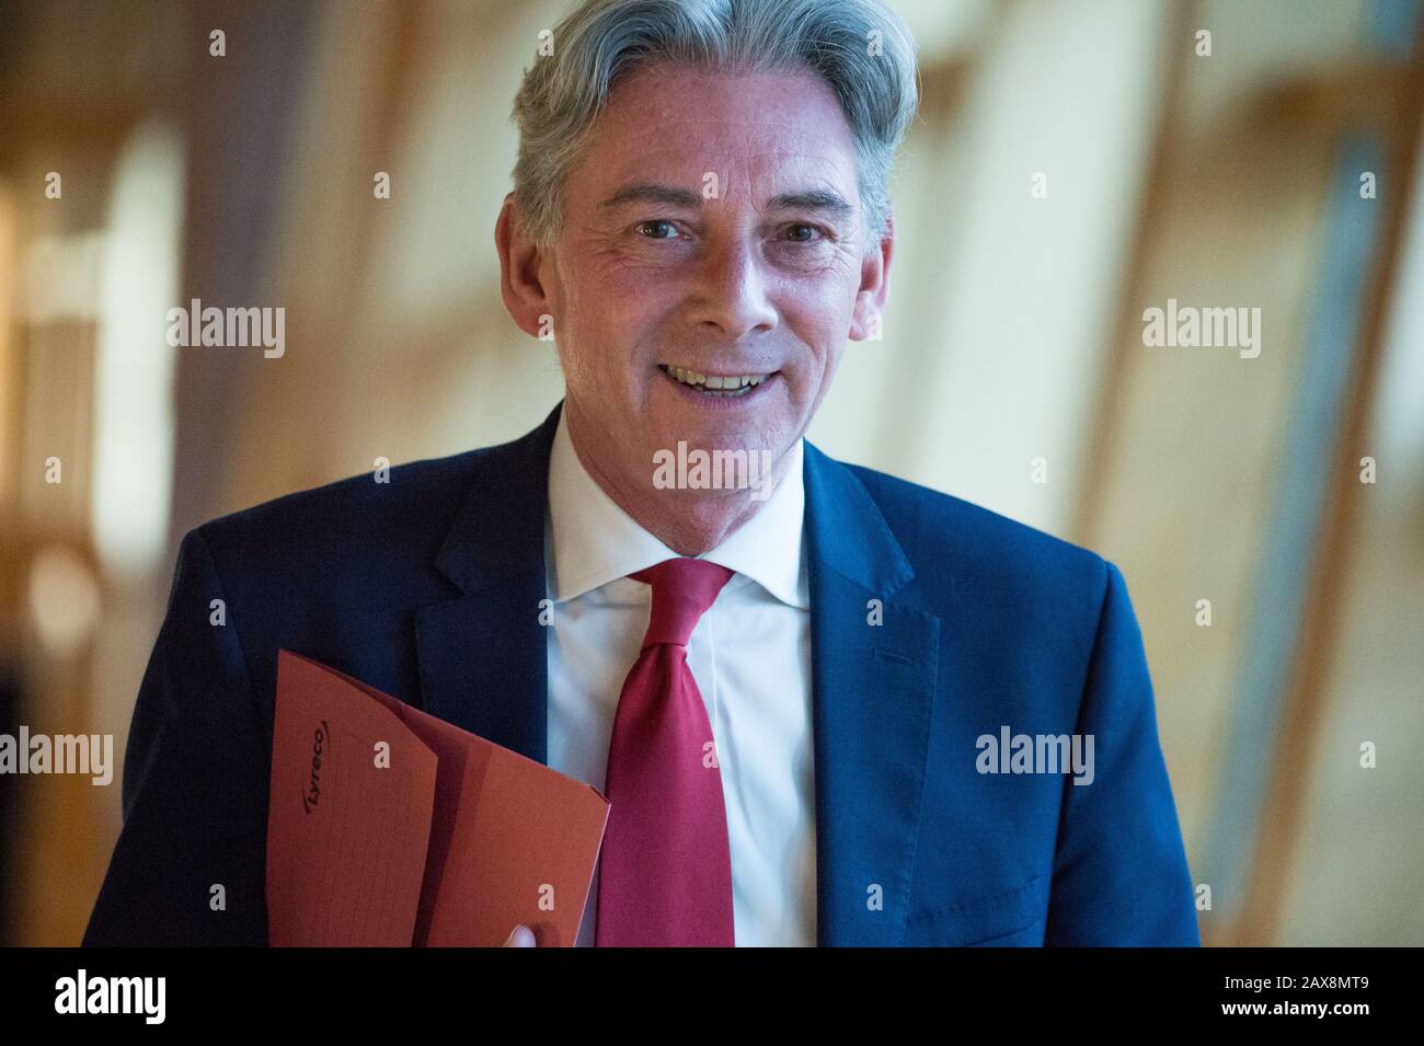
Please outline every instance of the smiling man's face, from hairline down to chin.
M819 77L656 64L621 81L540 263L570 426L602 478L651 491L654 453L679 441L769 451L779 475L883 299L889 246L864 235Z

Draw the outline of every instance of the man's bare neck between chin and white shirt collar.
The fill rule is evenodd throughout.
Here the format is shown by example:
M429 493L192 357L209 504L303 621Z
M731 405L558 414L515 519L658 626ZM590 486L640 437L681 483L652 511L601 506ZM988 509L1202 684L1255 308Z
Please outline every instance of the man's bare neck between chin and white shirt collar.
M578 461L604 494L678 555L698 556L716 548L769 501L769 497L753 500L749 490L654 490L648 485L648 475L629 480L617 470L605 468L580 441L574 411L568 413L568 437ZM782 481L790 458L790 454L783 454L770 475L763 477L770 491Z

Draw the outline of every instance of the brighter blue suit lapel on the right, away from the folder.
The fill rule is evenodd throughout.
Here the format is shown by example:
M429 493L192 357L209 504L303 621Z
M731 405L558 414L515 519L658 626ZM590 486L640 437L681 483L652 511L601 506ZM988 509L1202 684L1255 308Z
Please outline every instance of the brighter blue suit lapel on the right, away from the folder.
M891 596L910 564L849 468L806 444L816 938L904 938L940 619ZM883 623L871 625L879 601Z

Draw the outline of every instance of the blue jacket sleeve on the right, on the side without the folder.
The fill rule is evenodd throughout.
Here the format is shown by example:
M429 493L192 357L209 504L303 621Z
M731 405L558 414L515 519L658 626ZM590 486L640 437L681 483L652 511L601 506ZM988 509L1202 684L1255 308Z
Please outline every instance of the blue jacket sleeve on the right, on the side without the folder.
M1122 574L1105 565L1077 726L1094 739L1094 778L1064 781L1044 944L1198 946L1142 633Z

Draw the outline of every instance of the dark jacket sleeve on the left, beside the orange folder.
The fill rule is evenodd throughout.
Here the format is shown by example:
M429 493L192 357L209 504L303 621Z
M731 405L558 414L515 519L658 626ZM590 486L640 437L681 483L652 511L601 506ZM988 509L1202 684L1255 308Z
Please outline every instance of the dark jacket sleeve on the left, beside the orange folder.
M184 535L138 690L124 827L84 945L266 944L271 746L202 529Z

